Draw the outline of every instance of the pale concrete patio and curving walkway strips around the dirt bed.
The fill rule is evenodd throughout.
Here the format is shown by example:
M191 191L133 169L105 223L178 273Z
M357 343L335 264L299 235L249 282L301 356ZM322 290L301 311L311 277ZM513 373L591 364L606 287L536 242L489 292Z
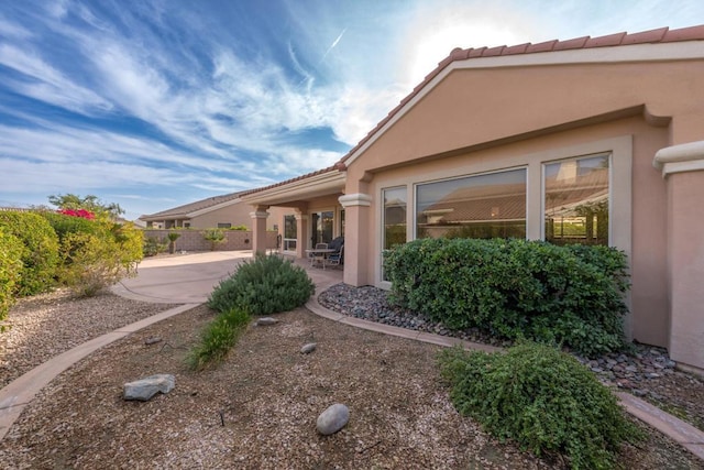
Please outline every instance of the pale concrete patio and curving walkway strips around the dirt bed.
M70 365L118 339L161 321L174 315L178 315L199 304L207 302L212 288L232 274L238 264L251 259L251 251L226 251L210 253L178 254L168 258L147 259L140 264L136 277L123 280L112 287L117 295L135 300L185 304L170 308L158 315L152 316L132 325L128 325L116 331L85 342L69 351L66 351L44 364L20 376L4 389L0 390L0 441L6 436L10 426L22 413L22 409L34 398L42 387L48 384L59 373ZM296 264L305 267L308 275L316 284L316 294L330 286L342 282L341 270L320 270L310 267L305 261L297 260ZM486 345L463 341L457 338L448 338L439 335L414 331L406 328L382 325L360 318L349 317L322 307L314 295L306 307L314 314L339 321L344 325L364 328L372 331L393 335L400 338L415 339L443 347L460 345L468 349L497 351ZM626 411L666 436L689 449L692 453L704 460L704 433L683 420L669 415L649 403L627 393L618 393L618 397Z

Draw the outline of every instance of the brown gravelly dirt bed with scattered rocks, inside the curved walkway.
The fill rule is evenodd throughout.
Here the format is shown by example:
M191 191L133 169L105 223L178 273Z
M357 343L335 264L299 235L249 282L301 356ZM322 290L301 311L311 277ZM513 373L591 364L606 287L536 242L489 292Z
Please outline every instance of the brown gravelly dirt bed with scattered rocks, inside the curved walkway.
M189 371L184 358L213 318L201 306L147 327L61 374L0 442L9 469L542 469L459 416L439 378L439 348L360 330L305 308L250 326L224 362ZM161 339L156 342L147 339ZM147 342L151 342L147 345ZM300 348L317 342L302 354ZM156 373L176 387L125 402L122 385ZM350 408L339 433L318 415ZM702 469L656 431L626 447L627 469Z

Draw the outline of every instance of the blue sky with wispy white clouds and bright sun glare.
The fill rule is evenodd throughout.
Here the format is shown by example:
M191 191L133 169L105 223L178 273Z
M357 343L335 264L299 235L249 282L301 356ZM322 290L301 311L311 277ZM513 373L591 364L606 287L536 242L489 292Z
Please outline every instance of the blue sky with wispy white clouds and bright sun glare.
M0 3L0 206L128 219L333 164L453 47L704 23L701 0Z

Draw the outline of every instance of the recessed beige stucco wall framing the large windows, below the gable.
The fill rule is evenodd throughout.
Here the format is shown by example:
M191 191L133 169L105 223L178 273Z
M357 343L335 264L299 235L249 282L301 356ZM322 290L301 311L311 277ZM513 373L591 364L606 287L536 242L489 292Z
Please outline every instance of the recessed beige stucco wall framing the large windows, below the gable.
M414 200L414 185L433 179L443 179L461 175L491 172L497 168L527 167L529 184L528 200L528 238L541 239L542 222L541 203L541 163L564 157L579 156L603 151L614 151L620 142L630 142L627 149L615 153L613 159L631 159L631 172L618 175L622 181L614 181L615 186L629 183L632 186L632 198L622 197L622 204L630 204L630 227L615 227L615 230L627 230L630 241L618 248L625 250L630 259L630 293L632 318L632 337L639 341L666 346L668 341L668 299L666 272L666 185L652 165L652 155L667 144L667 128L652 128L641 117L617 120L586 127L579 130L563 131L549 136L535 138L520 143L503 145L496 149L464 153L441 160L431 160L414 166L380 172L369 184L374 200L382 200L382 189L406 186L409 210L407 215L408 238L413 237L414 214L410 206ZM616 163L616 162L614 162ZM618 203L615 203L618 204ZM369 211L367 223L372 240L371 249L364 263L374 266L373 277L366 283L382 285L381 280L381 204ZM613 219L618 226L623 220ZM625 222L628 223L628 222ZM612 237L613 239L614 237Z

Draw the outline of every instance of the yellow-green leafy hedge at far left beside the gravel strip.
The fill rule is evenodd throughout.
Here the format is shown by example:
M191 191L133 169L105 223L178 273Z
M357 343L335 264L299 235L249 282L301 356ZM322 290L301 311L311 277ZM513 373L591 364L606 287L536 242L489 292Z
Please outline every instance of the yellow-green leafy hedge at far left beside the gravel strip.
M142 259L142 231L107 217L1 211L0 230L0 317L15 297L47 292L57 284L92 295L130 274ZM19 273L8 267L16 265Z

